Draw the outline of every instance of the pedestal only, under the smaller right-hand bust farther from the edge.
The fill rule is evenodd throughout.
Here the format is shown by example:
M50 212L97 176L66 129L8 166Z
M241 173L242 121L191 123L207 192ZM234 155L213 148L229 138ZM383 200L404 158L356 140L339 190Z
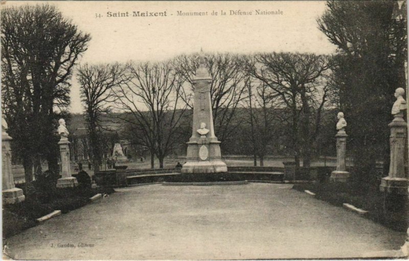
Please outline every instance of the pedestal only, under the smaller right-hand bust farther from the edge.
M339 129L336 138L336 170L331 172L331 182L347 182L350 173L346 171L345 152L347 148L347 137L344 128Z

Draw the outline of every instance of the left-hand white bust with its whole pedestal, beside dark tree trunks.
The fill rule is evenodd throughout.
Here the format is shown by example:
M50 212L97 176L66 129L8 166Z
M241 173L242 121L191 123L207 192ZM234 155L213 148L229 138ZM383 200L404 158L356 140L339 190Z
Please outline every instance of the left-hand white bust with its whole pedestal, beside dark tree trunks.
M65 127L64 119L58 121L60 124L58 126L57 132L60 135L60 141L58 145L60 146L61 155L61 179L57 180L57 188L75 187L78 186L78 181L75 177L71 176L70 168L70 142L68 141L68 129Z

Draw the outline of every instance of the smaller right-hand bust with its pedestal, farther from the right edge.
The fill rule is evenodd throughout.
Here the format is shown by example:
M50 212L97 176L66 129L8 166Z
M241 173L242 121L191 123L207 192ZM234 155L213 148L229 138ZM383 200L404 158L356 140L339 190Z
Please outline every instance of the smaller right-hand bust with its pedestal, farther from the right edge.
M347 133L345 132L345 127L347 126L347 121L344 119L344 113L339 112L337 115L338 122L336 123L336 129L338 133L335 135L336 138L336 170L331 172L330 181L333 182L347 182L349 178L349 172L346 171L345 167L345 151L347 147Z

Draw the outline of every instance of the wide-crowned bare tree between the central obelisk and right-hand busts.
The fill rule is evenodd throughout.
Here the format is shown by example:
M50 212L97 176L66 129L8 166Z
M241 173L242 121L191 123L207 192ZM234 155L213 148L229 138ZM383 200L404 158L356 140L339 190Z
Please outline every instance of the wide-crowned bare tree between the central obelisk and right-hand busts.
M320 130L321 112L327 102L328 57L300 53L261 53L247 57L247 73L277 93L291 115L294 159L310 165L312 146Z

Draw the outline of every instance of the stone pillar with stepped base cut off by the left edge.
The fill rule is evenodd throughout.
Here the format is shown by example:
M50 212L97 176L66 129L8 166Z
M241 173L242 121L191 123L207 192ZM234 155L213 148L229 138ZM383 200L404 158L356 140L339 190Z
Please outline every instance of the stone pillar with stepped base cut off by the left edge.
M2 126L2 176L3 176L3 204L15 204L26 199L22 189L14 186L13 173L11 172L11 148L12 138Z

